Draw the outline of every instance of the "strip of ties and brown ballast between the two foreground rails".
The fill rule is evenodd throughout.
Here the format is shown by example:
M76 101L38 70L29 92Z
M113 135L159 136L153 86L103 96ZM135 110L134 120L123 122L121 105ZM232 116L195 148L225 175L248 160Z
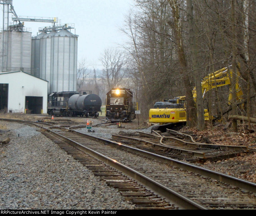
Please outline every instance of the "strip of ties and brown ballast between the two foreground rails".
M135 153L120 151L118 143L116 147L113 147L107 142L86 140L87 135L75 131L59 131L57 133L102 155L107 155L169 189L175 189L180 195L200 204L200 208L256 208L256 198L253 194L243 192L229 184L161 163L158 160L152 162ZM89 137L92 139L92 136ZM222 194L220 191L225 191L225 193Z

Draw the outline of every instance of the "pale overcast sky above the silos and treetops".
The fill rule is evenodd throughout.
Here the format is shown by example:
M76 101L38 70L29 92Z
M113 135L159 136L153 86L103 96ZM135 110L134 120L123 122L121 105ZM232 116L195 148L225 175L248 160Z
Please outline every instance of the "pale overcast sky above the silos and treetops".
M118 47L126 40L119 28L132 5L133 0L13 0L18 16L57 17L61 24L74 23L76 31L71 32L79 35L77 59L79 62L85 58L88 65L99 65L105 48ZM25 27L32 29L32 36L39 27L50 25L25 22Z

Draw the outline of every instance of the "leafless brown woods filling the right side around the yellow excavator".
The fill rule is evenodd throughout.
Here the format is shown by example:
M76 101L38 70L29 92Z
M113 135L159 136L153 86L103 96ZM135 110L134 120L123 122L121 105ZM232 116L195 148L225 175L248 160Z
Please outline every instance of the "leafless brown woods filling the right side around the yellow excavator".
M190 15L186 10L188 2L193 2L194 6L193 11L190 6ZM200 80L228 67L233 58L233 65L239 62L241 69L230 68L236 78L231 87L239 82L244 93L247 92L247 105L252 103L247 115L256 115L255 99L249 102L256 95L255 0L136 0L134 7L136 10L130 11L122 31L129 38L124 48L129 59L131 88L138 93L144 113L164 97L186 94L186 99L190 100L186 104L190 115L188 125L190 120L189 126L196 121L204 125L204 118L201 123L196 120L199 115L193 107L192 89L196 85L200 93ZM191 34L192 28L194 33ZM212 86L209 82L210 91L204 98L209 102L210 114L221 114L225 122L225 113L230 108L229 86ZM233 105L237 106L237 101L233 101ZM202 108L203 104L200 115ZM245 114L244 107L237 111ZM143 118L148 116L145 114Z

